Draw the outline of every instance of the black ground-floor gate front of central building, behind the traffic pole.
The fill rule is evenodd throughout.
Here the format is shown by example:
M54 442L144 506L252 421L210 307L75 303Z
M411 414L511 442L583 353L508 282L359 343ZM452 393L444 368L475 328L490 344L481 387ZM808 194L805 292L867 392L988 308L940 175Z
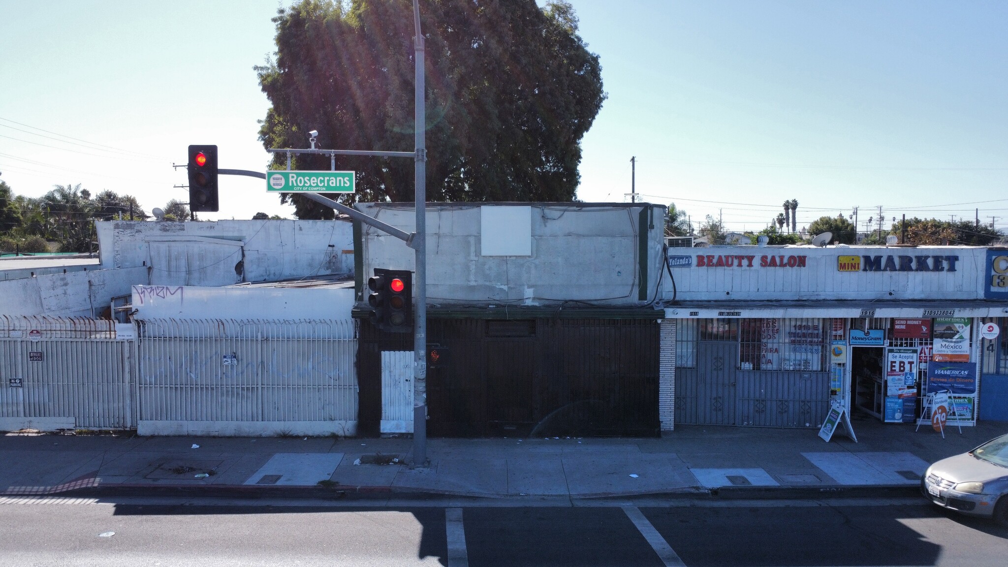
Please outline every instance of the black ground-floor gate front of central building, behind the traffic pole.
M654 436L658 324L653 319L428 319L431 436ZM381 356L412 337L361 322L361 427L377 433Z

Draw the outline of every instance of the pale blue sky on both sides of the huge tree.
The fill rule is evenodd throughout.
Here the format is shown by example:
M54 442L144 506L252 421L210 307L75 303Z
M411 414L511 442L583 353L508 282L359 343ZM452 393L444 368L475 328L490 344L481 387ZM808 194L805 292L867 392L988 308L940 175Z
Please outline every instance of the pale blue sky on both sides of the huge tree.
M858 206L864 229L881 205L887 223L979 208L1008 228L1008 4L573 4L609 94L583 142L582 200L628 200L635 155L647 200L733 230L787 199L799 226ZM186 199L171 163L190 143L264 168L252 68L278 5L0 4L0 179L32 196L129 193L149 211ZM262 182L222 181L221 213L202 217L292 217Z

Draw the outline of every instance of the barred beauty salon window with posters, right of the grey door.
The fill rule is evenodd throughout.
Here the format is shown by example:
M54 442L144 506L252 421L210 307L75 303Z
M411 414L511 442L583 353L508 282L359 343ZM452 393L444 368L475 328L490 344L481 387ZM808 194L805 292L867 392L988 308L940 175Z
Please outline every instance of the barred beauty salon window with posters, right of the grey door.
M742 370L823 371L827 322L823 319L746 319L739 340Z

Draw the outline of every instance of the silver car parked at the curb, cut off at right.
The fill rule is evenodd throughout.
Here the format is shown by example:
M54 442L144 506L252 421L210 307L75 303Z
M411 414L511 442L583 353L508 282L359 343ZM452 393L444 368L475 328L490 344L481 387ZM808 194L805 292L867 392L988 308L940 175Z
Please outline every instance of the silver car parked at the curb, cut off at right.
M927 467L920 490L940 506L1008 526L1008 435Z

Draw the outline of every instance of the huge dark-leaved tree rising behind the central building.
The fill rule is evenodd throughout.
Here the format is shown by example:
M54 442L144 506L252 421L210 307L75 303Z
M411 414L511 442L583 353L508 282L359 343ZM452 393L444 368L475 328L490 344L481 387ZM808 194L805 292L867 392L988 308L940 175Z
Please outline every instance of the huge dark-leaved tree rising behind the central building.
M266 147L413 148L411 0L302 0L281 8L276 55L256 68L272 103ZM581 139L602 107L599 58L578 35L570 4L553 0L425 0L429 201L572 201ZM286 157L273 164L283 168ZM328 169L324 155L293 167ZM347 201L410 201L413 161L338 156L357 172ZM298 218L332 218L301 196Z

